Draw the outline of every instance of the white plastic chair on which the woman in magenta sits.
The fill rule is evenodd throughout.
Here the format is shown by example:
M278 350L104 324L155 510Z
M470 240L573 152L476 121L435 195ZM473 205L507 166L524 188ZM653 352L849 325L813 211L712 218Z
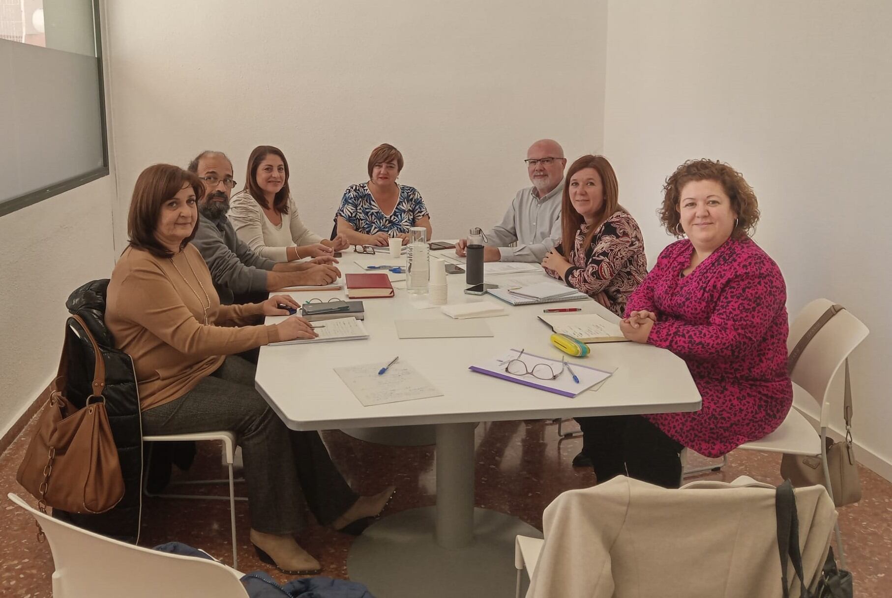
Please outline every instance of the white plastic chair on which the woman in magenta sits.
M832 306L830 299L814 299L802 308L796 319L790 324L787 340L787 352L796 347L797 342L808 332L818 318ZM852 315L847 309L834 315L805 347L802 355L790 374L793 381L793 402L814 400L821 405L821 434L814 431L811 422L805 415L792 407L786 419L768 436L738 446L741 450L764 451L766 453L787 453L789 455L820 456L824 468L824 486L830 498L830 471L827 469L827 448L825 438L830 421L830 381L836 376L839 368L846 363L848 356L867 337L867 326ZM836 408L840 408L839 403ZM723 464L728 462L725 455ZM683 462L682 462L683 463ZM693 471L685 471L685 474ZM846 564L842 547L839 526L836 527L837 553L843 567Z

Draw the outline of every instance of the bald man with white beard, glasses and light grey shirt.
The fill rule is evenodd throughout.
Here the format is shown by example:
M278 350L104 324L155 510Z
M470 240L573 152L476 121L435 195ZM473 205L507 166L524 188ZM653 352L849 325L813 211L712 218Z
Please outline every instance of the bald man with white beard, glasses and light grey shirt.
M517 192L500 224L483 235L484 262L538 262L561 240L560 207L564 192L564 149L553 139L540 139L526 151L532 187ZM516 247L509 247L516 242ZM467 239L456 243L464 257Z

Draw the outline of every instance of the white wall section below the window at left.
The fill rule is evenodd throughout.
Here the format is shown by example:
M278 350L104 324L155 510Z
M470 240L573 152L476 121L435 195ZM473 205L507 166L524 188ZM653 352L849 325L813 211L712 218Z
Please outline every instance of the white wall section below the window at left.
M0 437L55 375L65 299L111 274L114 197L103 176L0 218Z

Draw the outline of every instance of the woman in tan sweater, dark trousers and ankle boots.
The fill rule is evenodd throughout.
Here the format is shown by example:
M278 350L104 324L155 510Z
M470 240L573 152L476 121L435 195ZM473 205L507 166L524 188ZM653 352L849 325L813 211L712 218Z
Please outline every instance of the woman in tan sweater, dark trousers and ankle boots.
M293 538L306 525L304 499L319 523L351 530L378 514L393 488L356 495L318 432L288 430L254 389L254 366L233 354L316 333L297 316L242 325L252 316L287 315L277 306L298 307L287 295L220 305L208 267L189 244L202 193L201 180L175 166L156 164L139 176L129 245L111 274L105 322L133 358L144 433L235 432L260 559L287 574L316 573L318 561Z

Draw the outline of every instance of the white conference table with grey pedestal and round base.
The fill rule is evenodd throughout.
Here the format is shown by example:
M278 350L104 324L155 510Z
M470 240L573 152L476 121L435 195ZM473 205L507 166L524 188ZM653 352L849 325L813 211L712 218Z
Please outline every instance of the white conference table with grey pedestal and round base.
M454 256L451 250L431 255L442 254ZM384 259L347 250L339 266L344 273L362 272L361 263L389 263ZM487 281L499 283L521 275L531 274L487 275ZM541 275L544 280L545 274ZM364 299L367 340L260 348L256 388L293 430L435 426L436 507L386 516L351 547L347 562L351 579L366 584L378 598L433 598L455 595L459 587L463 595L475 591L482 596L511 595L514 536L541 537L541 533L506 514L475 509L478 422L686 412L697 411L701 405L681 358L665 349L632 342L591 344L589 356L567 356L570 363L615 368L597 391L574 398L471 372L468 365L511 348L524 348L538 356L564 356L551 345L551 332L536 318L544 308L582 307L582 313L614 322L618 318L593 300L513 307L488 295L464 294L465 274L450 274L447 280L450 304L486 301L506 308L507 316L484 320L493 337L399 339L394 320L449 319L438 307L413 307L425 295L409 295L402 282L393 283L396 296L392 299ZM343 291L291 294L300 302L312 297L345 297ZM334 371L342 365L381 366L393 356L413 365L443 396L364 406Z

